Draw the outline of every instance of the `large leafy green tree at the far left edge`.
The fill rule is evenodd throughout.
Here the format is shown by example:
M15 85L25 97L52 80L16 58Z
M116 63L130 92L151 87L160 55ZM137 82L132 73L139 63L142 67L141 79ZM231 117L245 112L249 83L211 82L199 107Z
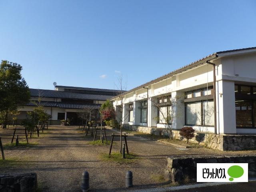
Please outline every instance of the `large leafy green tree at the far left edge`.
M22 66L2 60L0 65L0 112L3 128L6 128L8 114L30 100L28 85L21 75Z

